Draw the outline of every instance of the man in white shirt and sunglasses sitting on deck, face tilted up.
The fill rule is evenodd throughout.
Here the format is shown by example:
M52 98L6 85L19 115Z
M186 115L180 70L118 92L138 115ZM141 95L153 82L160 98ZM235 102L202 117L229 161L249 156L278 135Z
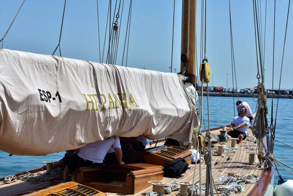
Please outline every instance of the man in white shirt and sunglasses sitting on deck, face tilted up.
M245 116L246 108L242 106L239 110L240 116L237 116L233 119L231 126L223 127L223 130L227 131L227 134L232 138L238 138L237 143L240 143L242 140L246 139L249 118Z

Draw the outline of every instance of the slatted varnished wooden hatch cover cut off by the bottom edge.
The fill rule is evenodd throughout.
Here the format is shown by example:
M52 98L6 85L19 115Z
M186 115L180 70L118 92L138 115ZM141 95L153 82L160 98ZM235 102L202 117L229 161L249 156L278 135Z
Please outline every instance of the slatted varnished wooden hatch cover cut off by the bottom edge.
M33 196L69 196L69 195L83 195L83 196L106 196L105 193L95 190L91 187L81 185L76 182L66 182L58 185L43 187L32 190L20 195Z

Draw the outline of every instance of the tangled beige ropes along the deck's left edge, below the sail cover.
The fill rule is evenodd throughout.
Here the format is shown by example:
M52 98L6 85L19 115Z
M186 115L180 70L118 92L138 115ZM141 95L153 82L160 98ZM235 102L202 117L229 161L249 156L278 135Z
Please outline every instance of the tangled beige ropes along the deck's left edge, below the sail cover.
M40 182L50 181L50 180L62 180L63 179L63 170L60 168L54 169L47 173L36 173L32 174L28 171L23 171L20 176L16 177L15 175L6 176L3 184L8 184L15 182L16 180L23 180L30 182L30 184L38 184Z

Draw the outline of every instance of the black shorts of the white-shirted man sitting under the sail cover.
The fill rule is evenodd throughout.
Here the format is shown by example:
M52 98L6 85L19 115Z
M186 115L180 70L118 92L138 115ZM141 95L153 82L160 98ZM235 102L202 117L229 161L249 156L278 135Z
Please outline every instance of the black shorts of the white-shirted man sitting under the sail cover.
M74 153L71 160L67 163L67 166L72 172L74 172L77 167L102 167L103 165L103 163L95 163L93 161L80 158L77 153Z

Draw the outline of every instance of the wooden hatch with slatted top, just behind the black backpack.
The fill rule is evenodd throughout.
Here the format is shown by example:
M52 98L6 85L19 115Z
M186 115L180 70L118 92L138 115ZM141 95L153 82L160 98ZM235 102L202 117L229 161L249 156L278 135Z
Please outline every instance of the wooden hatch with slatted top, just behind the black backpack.
M183 158L189 165L191 164L191 151L179 146L162 145L148 148L142 152L127 155L132 162L145 162L154 165L164 165L176 158Z

